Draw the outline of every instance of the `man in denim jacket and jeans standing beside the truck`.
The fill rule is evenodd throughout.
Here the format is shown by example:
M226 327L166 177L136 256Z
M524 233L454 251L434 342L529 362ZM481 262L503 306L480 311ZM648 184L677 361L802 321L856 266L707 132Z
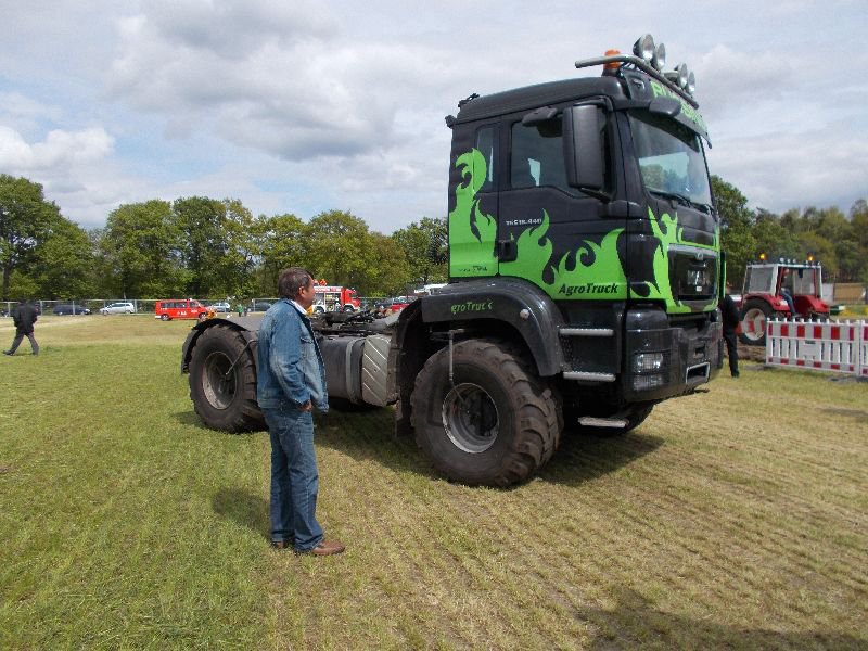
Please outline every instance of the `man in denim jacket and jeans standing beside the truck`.
M259 326L256 398L271 435L271 545L296 553L344 551L327 541L317 522L319 472L314 450L314 408L329 410L326 369L307 318L314 278L292 267L280 273L280 301Z

